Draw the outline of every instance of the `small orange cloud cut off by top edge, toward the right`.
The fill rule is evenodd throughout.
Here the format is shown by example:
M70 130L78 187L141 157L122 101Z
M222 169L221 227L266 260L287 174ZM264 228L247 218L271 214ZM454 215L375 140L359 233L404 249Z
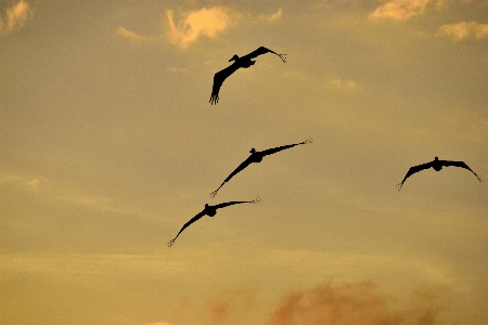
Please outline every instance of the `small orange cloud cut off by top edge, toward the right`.
M422 14L431 0L393 0L376 8L369 15L372 21L389 18L394 21L407 21L410 17Z

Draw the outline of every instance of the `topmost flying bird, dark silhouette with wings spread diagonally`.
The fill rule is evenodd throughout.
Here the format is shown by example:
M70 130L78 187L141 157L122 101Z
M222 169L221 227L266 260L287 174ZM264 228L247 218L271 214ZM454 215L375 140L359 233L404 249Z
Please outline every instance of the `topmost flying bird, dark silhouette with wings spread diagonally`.
M220 87L222 86L222 83L227 79L227 77L229 77L230 75L235 73L239 68L248 68L249 66L254 65L256 63L256 61L253 61L252 58L259 56L261 54L265 54L265 53L273 53L273 54L280 56L280 58L281 58L281 61L283 61L283 63L286 63L286 54L278 54L265 47L259 47L257 50L251 52L249 54L241 56L241 57L239 57L237 54L234 54L234 56L232 56L229 60L229 62L233 61L233 63L230 66L228 66L227 68L215 74L214 86L211 88L211 95L210 95L209 103L211 105L214 105L214 104L217 105L217 103L219 102Z

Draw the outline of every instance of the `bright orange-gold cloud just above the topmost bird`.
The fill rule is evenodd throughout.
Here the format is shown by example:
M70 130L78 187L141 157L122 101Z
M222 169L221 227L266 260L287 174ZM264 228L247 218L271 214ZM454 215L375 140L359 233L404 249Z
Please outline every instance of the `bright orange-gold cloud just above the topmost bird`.
M170 41L183 49L201 36L216 38L232 23L229 9L223 6L193 11L178 24L175 24L172 10L168 10L166 15L169 23Z

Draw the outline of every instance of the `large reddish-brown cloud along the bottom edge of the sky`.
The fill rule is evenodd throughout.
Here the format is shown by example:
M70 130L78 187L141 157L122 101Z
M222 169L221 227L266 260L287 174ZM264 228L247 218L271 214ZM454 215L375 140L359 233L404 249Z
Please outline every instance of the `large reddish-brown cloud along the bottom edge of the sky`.
M394 306L372 282L331 284L288 294L271 313L269 325L447 324L451 294L445 287L415 291L408 306Z

